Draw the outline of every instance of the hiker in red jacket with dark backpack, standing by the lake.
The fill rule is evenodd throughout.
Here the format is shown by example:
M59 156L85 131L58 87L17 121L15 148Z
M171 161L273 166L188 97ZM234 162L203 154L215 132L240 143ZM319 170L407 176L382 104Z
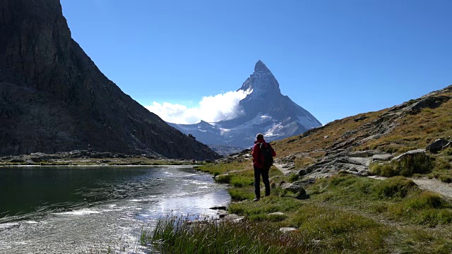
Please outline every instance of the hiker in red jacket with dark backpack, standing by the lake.
M276 156L276 152L269 143L266 143L266 140L263 140L263 135L258 133L251 155L253 155L254 194L256 194L253 201L258 201L261 200L261 175L263 184L266 186L266 196L270 195L268 171L273 164L273 157Z

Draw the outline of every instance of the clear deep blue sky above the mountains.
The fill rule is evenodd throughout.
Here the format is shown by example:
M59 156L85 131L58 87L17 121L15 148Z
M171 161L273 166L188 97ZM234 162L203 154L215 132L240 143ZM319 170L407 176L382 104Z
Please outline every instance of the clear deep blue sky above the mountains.
M452 1L61 0L61 5L73 39L143 106L166 102L177 110L200 109L206 98L227 104L219 98L239 89L259 59L283 95L321 123L452 84Z

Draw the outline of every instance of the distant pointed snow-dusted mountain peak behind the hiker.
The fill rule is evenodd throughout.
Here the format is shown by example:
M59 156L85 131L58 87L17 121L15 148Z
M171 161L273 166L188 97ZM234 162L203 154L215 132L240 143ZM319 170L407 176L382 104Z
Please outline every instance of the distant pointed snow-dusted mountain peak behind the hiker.
M235 119L196 124L169 125L208 145L232 145L250 147L257 133L263 133L267 141L299 135L321 123L307 110L282 95L275 76L262 62L254 66L254 73L245 80L239 90L248 95L239 102L242 111Z

